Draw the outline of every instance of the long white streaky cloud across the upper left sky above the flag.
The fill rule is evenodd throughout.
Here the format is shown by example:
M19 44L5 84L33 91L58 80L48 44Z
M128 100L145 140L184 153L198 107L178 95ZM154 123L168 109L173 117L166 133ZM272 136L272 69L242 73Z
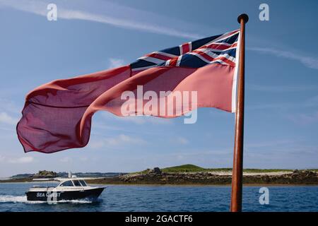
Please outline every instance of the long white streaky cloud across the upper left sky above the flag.
M44 1L35 1L35 0L20 0L20 1L11 1L11 0L0 0L0 6L7 6L10 8L15 8L20 11L26 11L29 13L35 13L40 16L47 16L47 4L50 2ZM143 30L146 32L153 32L156 34L163 35L172 35L177 37L187 37L187 38L199 38L201 35L196 35L194 33L183 32L175 28L169 28L160 24L151 24L147 23L145 20L136 20L137 16L150 16L160 17L154 13L148 13L134 8L129 8L126 6L120 6L107 1L98 1L95 4L98 4L100 8L103 8L104 11L102 14L93 13L90 11L84 10L72 10L62 5L57 4L57 19L68 19L68 20L88 20L98 23L105 23L108 25L114 25L120 28L129 28L134 30ZM72 3L70 1L67 2ZM77 5L76 1L73 1L74 6ZM73 7L72 7L73 8ZM88 7L87 7L88 8ZM86 9L87 10L87 9ZM126 12L126 13L124 13ZM117 13L117 15L115 14ZM151 17L152 16L152 17ZM167 20L165 17L160 17Z

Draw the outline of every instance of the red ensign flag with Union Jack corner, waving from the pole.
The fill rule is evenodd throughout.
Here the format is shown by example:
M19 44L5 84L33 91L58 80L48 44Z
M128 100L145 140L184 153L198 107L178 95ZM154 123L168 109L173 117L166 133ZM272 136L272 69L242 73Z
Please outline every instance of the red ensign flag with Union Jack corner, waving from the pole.
M165 118L196 107L235 112L239 39L235 30L146 54L128 66L41 85L26 97L20 143L25 152L81 148L101 109Z

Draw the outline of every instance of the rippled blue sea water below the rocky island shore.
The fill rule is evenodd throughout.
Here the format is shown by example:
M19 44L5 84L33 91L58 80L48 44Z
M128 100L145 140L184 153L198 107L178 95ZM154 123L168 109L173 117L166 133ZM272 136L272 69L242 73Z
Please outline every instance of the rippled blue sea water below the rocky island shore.
M228 211L230 186L110 185L97 201L27 201L35 183L0 184L0 211ZM268 186L269 204L259 203L260 186L245 186L244 211L318 211L318 186Z

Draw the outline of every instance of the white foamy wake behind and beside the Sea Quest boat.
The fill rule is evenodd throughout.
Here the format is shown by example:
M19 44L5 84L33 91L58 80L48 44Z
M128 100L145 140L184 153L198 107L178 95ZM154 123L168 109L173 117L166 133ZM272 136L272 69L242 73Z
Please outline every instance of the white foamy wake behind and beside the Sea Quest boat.
M0 196L0 203L39 204L39 203L47 203L47 202L46 201L28 201L26 196ZM78 200L60 200L55 203L93 203L93 201L87 200L87 199L78 199Z

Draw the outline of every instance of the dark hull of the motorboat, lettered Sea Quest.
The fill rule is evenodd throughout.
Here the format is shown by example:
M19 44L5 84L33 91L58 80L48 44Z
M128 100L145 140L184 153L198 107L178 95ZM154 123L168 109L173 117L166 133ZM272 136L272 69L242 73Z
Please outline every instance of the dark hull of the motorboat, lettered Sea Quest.
M100 187L81 191L28 191L25 194L28 201L71 201L76 199L96 199L104 189L104 187Z

